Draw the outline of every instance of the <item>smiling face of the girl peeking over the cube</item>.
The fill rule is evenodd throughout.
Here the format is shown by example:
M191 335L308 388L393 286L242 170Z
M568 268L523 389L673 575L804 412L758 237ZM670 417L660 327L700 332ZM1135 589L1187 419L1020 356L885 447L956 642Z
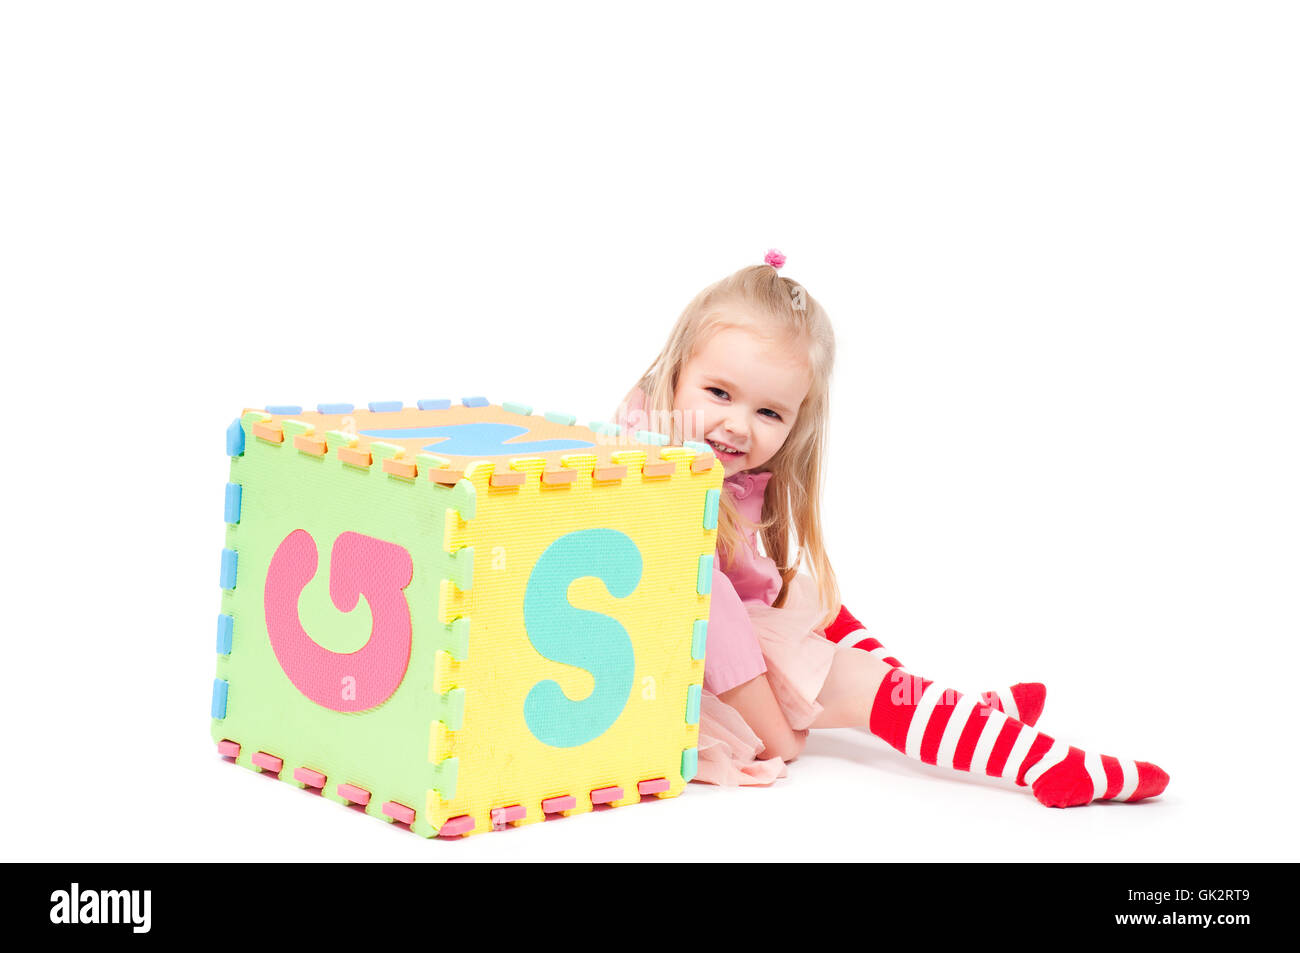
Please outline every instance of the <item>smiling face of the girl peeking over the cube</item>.
M681 411L685 439L710 443L727 476L771 460L811 386L802 350L742 328L716 332L677 380L673 410Z

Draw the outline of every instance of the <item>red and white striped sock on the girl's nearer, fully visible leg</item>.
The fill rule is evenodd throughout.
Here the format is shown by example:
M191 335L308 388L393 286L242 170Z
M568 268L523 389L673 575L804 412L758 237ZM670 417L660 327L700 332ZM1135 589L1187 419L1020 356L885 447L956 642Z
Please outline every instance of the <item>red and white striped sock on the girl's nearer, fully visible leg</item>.
M1083 751L901 668L880 683L870 731L927 764L1027 785L1048 807L1141 801L1169 784L1154 764Z

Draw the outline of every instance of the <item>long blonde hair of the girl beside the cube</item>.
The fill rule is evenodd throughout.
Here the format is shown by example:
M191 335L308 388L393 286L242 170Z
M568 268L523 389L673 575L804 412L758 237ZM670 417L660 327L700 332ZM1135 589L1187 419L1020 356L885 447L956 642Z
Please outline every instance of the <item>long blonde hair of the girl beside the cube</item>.
M744 306L745 312L755 320L737 324L734 319L722 313L720 306L727 303ZM736 326L766 339L806 346L812 380L785 443L759 468L772 473L763 501L762 521L755 524L746 520L737 512L729 494L720 494L718 545L724 554L724 567L731 564L741 545L741 527L744 525L745 532L758 532L763 551L781 572L781 590L772 605L784 605L790 579L798 572L801 563L807 563L818 595L828 612L822 623L824 627L833 621L840 610L840 588L822 536L822 489L831 372L835 365L835 333L822 306L801 285L781 277L771 265L742 268L696 295L681 312L668 335L668 343L642 374L637 387L645 393L645 413L651 421L650 429L667 434L672 443L681 443L681 415L673 413L681 369L712 334ZM627 417L627 407L628 398L624 398L619 419ZM798 546L798 558L793 562L789 554L790 530Z

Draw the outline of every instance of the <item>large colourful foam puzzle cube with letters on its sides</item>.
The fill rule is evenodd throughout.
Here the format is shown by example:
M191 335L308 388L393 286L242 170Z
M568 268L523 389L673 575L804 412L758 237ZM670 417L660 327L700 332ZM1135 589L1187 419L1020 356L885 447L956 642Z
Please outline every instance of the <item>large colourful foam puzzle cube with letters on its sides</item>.
M681 793L722 465L484 398L226 433L218 751L424 836Z

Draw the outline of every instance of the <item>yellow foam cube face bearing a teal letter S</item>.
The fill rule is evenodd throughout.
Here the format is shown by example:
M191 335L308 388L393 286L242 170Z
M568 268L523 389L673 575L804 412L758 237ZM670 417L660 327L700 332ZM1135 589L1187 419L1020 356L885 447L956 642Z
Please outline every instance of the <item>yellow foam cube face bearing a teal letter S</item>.
M722 468L692 473L689 450L660 456L675 476L645 477L645 451L618 455L621 480L594 481L594 458L571 459L576 478L559 485L542 482L541 462L516 462L528 481L512 488L490 486L491 464L467 473L476 514L452 546L473 547L474 576L447 612L468 616L471 647L438 667L439 690L464 690L464 727L433 740L462 783L430 802L439 826L515 806L541 820L566 796L568 813L590 810L592 792L633 803L642 783L676 794L684 762L692 774L703 676L693 646L714 551L705 510Z

